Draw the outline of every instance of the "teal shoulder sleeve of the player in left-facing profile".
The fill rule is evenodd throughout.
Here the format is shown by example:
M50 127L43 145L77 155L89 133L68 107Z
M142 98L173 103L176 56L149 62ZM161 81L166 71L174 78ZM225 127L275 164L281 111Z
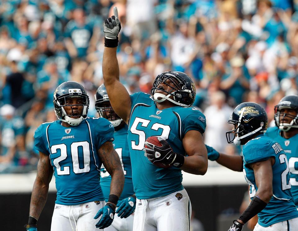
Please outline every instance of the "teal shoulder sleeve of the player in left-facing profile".
M276 155L272 147L273 144L274 142L271 142L268 138L249 141L242 149L243 161L246 164L252 164L268 160L271 156Z

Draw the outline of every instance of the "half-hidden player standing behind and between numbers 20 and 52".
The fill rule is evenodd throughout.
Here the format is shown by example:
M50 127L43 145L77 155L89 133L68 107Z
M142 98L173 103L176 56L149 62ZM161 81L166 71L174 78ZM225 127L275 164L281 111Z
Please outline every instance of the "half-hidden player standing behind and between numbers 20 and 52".
M133 230L133 215L131 215L136 207L136 196L133 191L133 180L131 174L131 163L129 155L129 147L127 143L127 125L117 116L111 107L110 99L106 93L105 85L102 84L97 88L95 94L95 108L102 118L108 119L115 129L113 146L119 155L123 172L124 172L124 188L119 197L116 213L118 216L114 218L111 226L105 231L131 231ZM106 201L109 199L111 175L102 165L100 170L100 186Z

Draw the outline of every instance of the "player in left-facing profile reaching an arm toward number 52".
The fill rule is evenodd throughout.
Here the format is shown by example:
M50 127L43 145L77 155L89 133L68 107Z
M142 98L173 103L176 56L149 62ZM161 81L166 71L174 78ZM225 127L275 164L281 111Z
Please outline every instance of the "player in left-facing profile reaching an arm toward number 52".
M298 229L298 211L291 194L287 156L276 140L264 136L268 116L257 103L244 102L233 111L228 123L234 129L226 133L228 143L243 145L242 156L227 156L207 147L208 158L241 171L250 185L251 203L229 231L241 231L258 214L254 231Z

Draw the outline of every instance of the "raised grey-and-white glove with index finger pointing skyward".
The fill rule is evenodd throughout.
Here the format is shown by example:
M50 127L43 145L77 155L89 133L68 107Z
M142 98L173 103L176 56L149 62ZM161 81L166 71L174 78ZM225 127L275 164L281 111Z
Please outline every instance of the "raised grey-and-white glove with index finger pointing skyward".
M117 39L121 29L117 7L114 7L114 15L103 22L103 32L109 39Z

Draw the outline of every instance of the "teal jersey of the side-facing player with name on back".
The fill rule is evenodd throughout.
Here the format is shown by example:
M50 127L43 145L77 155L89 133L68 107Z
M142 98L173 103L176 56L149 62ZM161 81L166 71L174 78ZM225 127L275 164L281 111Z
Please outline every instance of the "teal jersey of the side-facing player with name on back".
M258 190L255 183L254 171L249 164L268 160L274 157L273 171L273 197L267 206L258 214L258 223L263 227L298 217L294 199L291 193L290 173L287 156L282 147L272 138L263 134L251 139L242 149L243 173L247 183L250 184L250 197L255 196Z

